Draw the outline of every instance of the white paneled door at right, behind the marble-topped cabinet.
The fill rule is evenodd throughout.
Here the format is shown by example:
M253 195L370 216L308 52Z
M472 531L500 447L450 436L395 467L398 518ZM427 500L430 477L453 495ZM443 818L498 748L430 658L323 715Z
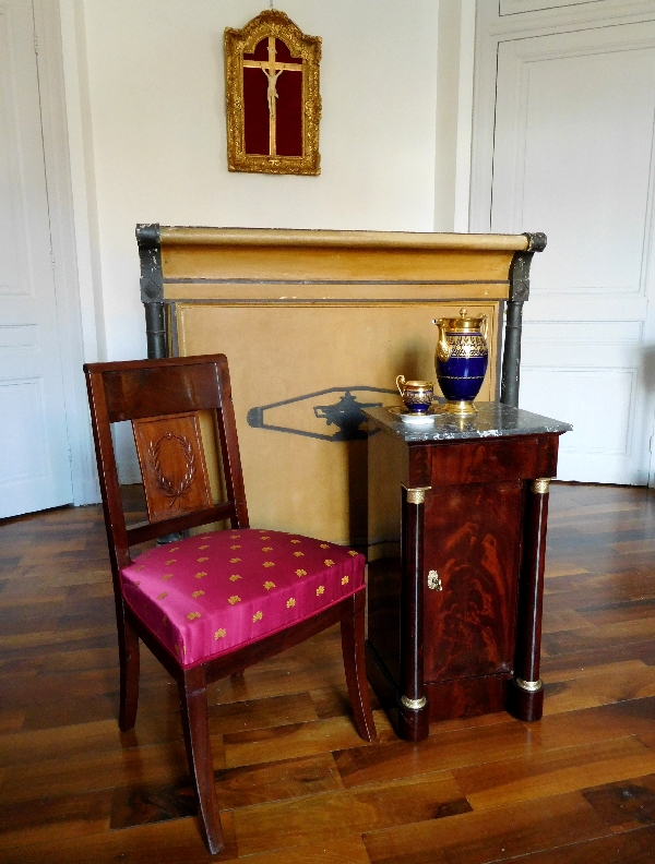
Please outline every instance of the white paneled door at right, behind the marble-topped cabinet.
M501 41L491 230L545 231L522 408L573 423L559 477L646 484L655 417L655 22Z

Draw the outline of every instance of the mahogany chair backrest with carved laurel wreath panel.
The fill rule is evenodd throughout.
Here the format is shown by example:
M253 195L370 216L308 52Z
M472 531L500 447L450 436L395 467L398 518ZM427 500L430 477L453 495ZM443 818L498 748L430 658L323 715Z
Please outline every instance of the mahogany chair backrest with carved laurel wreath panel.
M225 355L87 363L84 372L115 577L130 563L131 545L227 519L233 528L248 527ZM207 473L201 412L214 421L219 503ZM148 513L147 521L130 527L111 435L111 424L126 420L134 431Z

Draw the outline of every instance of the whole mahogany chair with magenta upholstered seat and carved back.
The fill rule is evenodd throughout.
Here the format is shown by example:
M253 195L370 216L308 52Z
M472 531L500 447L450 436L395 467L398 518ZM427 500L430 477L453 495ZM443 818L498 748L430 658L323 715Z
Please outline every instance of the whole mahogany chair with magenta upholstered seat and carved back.
M341 622L357 731L374 739L364 658L365 560L334 543L249 527L224 355L90 363L84 371L116 598L119 727L127 731L136 720L142 639L178 683L201 824L215 854L224 842L207 684ZM200 412L210 413L201 421ZM207 417L219 484L213 489ZM132 421L148 514L130 527L110 433L111 423L124 420ZM133 545L215 523L230 528L130 556Z

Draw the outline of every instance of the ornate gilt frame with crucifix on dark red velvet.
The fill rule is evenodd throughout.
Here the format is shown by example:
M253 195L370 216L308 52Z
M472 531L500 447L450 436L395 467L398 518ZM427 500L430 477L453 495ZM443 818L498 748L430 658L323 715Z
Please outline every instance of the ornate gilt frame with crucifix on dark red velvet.
M320 60L321 38L306 35L275 9L263 11L242 29L225 29L230 171L321 172Z

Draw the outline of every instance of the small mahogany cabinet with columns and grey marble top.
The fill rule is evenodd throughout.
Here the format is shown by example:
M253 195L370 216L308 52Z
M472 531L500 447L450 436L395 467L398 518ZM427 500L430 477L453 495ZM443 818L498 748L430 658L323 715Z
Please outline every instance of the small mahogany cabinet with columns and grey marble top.
M538 720L548 485L568 423L501 403L369 418L367 670L401 737L508 710Z

